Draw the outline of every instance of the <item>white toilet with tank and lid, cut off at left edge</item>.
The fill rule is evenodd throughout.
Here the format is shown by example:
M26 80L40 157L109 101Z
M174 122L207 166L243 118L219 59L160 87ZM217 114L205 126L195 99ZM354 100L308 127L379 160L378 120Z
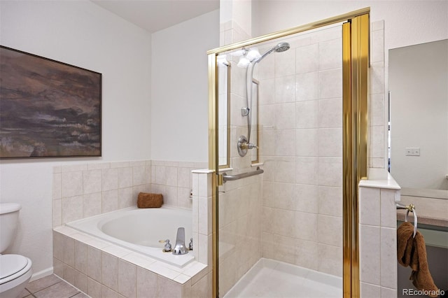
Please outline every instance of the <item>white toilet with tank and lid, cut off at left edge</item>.
M33 271L31 260L22 255L2 255L15 237L20 204L0 203L0 297L16 298L25 289Z

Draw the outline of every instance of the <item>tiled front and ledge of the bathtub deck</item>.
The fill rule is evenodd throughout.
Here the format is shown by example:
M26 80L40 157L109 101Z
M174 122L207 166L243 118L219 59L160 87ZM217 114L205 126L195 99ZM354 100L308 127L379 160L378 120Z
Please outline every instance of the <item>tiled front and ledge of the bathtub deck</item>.
M66 226L53 230L53 268L92 298L210 296L206 264L174 267Z

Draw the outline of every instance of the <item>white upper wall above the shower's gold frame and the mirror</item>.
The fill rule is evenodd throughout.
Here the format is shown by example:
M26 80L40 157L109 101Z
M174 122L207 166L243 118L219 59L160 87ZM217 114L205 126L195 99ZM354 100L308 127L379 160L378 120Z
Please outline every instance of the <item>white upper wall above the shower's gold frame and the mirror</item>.
M263 0L258 6L258 32L307 24L370 7L370 21L384 20L386 50L447 38L447 1L285 1ZM255 30L255 28L254 28Z

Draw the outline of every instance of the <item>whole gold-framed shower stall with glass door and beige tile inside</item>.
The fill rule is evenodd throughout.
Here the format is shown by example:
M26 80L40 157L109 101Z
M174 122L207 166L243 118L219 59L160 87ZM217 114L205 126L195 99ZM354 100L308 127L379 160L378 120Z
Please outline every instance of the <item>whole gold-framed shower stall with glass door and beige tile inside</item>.
M209 51L214 297L359 294L368 13Z

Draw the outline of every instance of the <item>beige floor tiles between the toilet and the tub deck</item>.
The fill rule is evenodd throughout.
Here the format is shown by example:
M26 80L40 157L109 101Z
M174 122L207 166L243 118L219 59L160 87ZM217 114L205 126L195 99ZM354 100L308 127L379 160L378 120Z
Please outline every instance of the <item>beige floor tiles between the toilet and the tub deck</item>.
M88 298L83 292L54 274L31 281L23 290L23 298Z

